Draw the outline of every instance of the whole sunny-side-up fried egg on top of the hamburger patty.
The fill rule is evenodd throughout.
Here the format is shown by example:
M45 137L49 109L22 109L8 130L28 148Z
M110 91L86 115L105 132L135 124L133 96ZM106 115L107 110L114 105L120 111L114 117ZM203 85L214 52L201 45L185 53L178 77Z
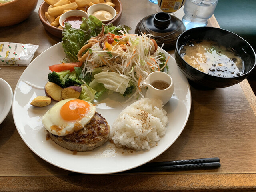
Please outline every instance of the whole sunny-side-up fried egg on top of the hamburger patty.
M95 110L96 107L90 102L65 99L44 114L42 123L52 134L64 136L83 129L91 121Z

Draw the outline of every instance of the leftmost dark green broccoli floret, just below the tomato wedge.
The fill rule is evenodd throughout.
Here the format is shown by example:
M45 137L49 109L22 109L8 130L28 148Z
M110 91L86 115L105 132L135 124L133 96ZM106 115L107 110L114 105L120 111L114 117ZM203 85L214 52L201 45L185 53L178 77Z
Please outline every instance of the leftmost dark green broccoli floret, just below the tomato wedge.
M50 82L56 83L57 85L61 86L62 88L65 87L65 80L70 76L70 70L64 70L61 72L51 72L48 74L48 80Z

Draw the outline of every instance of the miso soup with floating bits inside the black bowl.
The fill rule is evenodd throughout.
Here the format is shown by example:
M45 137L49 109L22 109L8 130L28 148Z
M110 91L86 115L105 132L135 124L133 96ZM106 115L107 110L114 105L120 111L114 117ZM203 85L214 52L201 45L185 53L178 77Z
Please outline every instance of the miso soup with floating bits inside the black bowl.
M190 41L181 46L180 54L192 67L213 76L236 77L244 72L242 58L213 41Z

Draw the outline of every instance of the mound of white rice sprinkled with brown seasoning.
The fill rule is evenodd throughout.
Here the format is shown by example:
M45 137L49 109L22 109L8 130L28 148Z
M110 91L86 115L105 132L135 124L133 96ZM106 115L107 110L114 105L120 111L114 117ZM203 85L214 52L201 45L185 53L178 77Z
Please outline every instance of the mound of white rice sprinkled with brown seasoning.
M150 150L166 133L166 114L161 100L142 98L122 110L110 138L117 147Z

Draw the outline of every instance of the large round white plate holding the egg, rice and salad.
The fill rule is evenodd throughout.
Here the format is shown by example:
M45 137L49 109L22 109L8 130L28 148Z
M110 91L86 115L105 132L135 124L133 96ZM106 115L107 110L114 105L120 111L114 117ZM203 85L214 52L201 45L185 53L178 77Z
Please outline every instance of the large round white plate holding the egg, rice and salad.
M169 54L162 50L168 57ZM41 118L52 107L36 108L30 102L36 96L45 95L42 89L48 81L48 66L59 64L65 57L62 43L58 43L40 54L23 72L14 91L12 112L16 128L26 145L47 162L73 172L86 174L108 174L129 170L156 158L168 149L182 132L191 107L188 81L170 56L169 74L174 81L174 94L164 106L168 113L168 130L158 145L147 151L129 152L116 148L110 142L90 152L77 152L62 148L52 140L46 140L46 131ZM124 108L125 99L118 94L105 97L96 103L96 111L108 121L110 128Z

